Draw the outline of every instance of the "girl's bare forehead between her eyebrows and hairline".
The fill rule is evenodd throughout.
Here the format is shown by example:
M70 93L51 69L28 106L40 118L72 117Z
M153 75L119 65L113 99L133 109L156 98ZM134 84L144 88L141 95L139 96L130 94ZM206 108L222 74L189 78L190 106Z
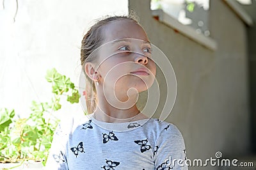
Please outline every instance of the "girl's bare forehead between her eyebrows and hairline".
M147 33L144 29L132 20L116 20L102 29L104 42L120 40L124 38L134 38L148 42Z

